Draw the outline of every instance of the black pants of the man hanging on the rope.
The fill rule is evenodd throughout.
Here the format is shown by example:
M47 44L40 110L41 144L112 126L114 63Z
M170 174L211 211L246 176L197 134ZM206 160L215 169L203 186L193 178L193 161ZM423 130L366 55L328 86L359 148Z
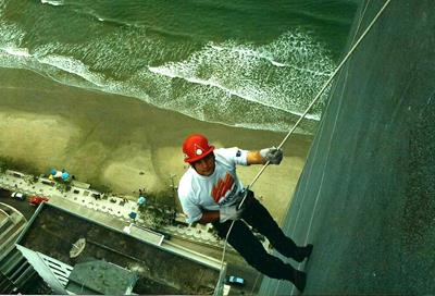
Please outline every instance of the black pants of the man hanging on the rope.
M248 192L244 205L245 210L241 218L246 223L268 237L272 246L282 255L286 257L298 255L299 248L295 242L283 233L269 211L253 197L252 192ZM213 222L212 224L217 231L219 236L225 238L232 222L232 220L228 220L224 223ZM293 282L296 270L290 264L284 263L279 258L268 254L263 245L241 220L234 222L227 242L250 266L261 273L273 279L289 280Z

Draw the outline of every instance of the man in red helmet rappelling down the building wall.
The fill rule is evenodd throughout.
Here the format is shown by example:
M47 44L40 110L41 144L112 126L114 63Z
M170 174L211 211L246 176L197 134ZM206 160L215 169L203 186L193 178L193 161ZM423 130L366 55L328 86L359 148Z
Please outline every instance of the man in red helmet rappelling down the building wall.
M203 135L194 134L185 139L183 152L189 168L179 181L178 198L187 222L212 223L221 238L226 237L234 223L227 242L241 257L261 273L290 281L302 292L307 274L270 255L247 224L268 237L282 255L298 262L309 258L313 246L299 247L286 236L253 192L244 188L236 174L237 164L264 164L268 161L279 164L283 151L274 147L259 151L237 147L214 149Z

